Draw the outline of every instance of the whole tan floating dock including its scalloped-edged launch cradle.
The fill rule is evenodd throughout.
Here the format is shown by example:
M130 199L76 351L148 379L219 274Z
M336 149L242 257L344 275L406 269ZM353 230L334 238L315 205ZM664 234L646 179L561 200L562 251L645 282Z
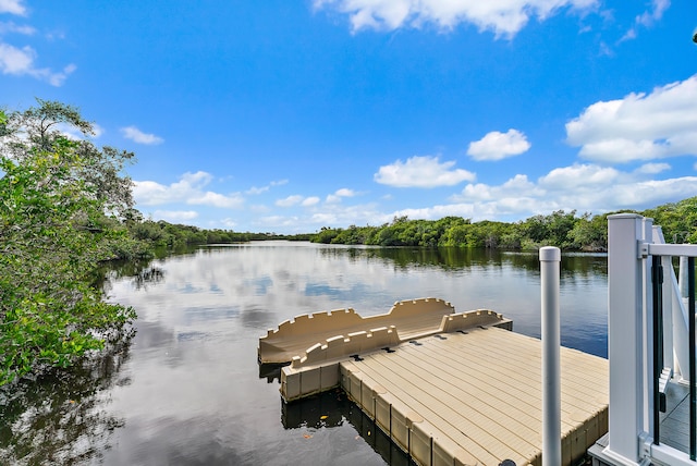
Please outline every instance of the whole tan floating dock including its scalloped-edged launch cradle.
M328 324L332 316L351 331ZM259 359L283 353L291 361L281 372L286 402L341 387L417 464L540 465L541 342L511 324L433 298L365 319L342 309L269 331ZM561 372L562 464L573 465L608 430L608 361L562 347Z

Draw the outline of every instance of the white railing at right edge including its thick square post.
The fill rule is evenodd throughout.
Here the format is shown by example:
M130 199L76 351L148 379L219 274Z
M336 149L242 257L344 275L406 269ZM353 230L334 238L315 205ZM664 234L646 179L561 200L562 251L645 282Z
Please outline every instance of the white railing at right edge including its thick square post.
M672 267L675 256L686 258L681 259L680 286ZM697 245L665 244L651 219L608 217L610 408L604 463L697 465L695 257ZM690 295L687 303L681 287ZM660 442L664 367L690 385L689 453Z

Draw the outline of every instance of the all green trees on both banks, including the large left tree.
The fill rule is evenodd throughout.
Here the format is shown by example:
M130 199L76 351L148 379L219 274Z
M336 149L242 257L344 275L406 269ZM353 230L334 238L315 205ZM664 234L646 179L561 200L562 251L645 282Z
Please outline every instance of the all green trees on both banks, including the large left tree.
M82 138L68 137L69 126ZM394 218L380 226L281 235L154 221L134 208L124 174L134 154L97 147L80 111L37 99L0 110L0 387L68 367L132 332L135 310L103 299L100 266L148 259L157 248L248 241L325 244L604 250L607 214L562 210L505 223ZM640 211L669 242L697 243L697 197Z

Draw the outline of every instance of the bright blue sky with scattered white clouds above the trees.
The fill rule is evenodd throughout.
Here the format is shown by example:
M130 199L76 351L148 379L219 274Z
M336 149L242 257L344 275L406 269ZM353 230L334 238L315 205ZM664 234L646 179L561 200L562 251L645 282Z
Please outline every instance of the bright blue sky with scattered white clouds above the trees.
M155 220L296 233L697 195L670 0L0 0L0 106L78 107Z

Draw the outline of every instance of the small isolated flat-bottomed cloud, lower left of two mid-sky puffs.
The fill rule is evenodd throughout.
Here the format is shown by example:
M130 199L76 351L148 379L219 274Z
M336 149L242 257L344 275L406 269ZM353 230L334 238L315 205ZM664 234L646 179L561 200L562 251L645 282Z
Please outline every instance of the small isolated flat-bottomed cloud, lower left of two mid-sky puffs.
M440 163L438 157L415 156L403 162L380 167L374 175L376 182L396 187L453 186L463 181L474 181L476 175L467 170L454 169L454 161Z

